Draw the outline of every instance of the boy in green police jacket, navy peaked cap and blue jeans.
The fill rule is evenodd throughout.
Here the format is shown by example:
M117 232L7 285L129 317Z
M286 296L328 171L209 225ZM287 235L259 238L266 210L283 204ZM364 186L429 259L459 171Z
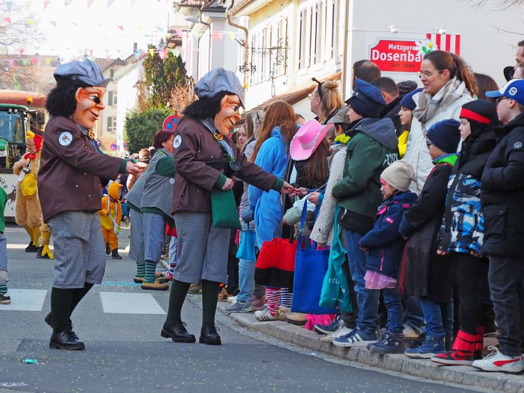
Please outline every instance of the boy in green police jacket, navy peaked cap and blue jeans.
M378 291L365 288L366 254L358 241L373 228L378 206L382 203L380 174L398 160L398 138L391 119L379 119L386 102L380 90L357 79L353 95L348 99L351 121L360 120L346 132L347 143L344 177L331 192L341 206L337 218L344 227L346 248L351 258L350 272L357 294L357 327L349 334L336 338L341 347L366 347L378 340Z

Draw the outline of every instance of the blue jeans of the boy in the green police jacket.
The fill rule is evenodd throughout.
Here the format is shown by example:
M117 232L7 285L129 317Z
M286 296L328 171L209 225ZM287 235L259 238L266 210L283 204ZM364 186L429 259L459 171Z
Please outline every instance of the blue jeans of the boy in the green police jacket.
M366 254L358 247L358 241L362 238L362 235L347 229L344 229L344 234L351 277L355 283L355 292L357 294L357 327L365 334L370 334L378 329L379 291L366 289L366 282L364 281Z

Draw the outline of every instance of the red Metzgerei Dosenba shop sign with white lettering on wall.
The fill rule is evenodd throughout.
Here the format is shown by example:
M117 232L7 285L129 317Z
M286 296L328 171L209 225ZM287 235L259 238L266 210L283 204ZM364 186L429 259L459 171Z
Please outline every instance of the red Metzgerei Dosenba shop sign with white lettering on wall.
M369 59L383 72L417 72L423 57L419 49L415 40L381 39L369 49Z

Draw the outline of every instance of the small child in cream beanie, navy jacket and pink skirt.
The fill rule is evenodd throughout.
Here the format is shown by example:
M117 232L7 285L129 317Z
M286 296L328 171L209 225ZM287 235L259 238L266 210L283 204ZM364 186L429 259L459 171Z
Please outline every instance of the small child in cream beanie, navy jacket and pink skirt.
M403 353L404 310L402 298L395 290L398 268L406 241L398 227L407 209L417 200L417 194L409 192L414 179L412 166L406 161L395 161L380 176L381 192L385 202L378 207L373 229L358 242L367 251L367 289L382 291L388 311L386 328L380 332L378 342L367 348L378 354Z

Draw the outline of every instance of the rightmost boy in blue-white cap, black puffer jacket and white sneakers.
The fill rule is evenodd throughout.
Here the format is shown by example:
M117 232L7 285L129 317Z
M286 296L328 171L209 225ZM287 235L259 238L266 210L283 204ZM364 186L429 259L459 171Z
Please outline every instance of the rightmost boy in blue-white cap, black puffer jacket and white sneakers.
M513 79L498 91L500 138L482 174L481 202L485 231L482 253L489 256L489 289L497 323L498 349L473 367L484 371L524 370L524 79Z

